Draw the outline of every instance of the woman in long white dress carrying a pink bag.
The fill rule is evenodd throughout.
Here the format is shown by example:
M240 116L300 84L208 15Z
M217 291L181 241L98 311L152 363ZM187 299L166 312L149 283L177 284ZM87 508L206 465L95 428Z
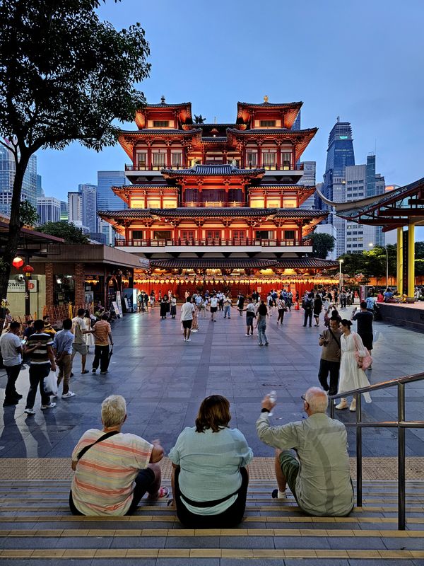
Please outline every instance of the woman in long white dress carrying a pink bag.
M351 320L341 321L341 363L340 363L340 379L338 380L338 393L343 391L351 391L360 387L367 387L370 385L365 371L360 367L362 359L367 352L363 345L363 341L359 334L351 332ZM356 359L355 352L358 350L359 362ZM363 393L364 399L367 403L371 403L370 393ZM348 400L342 397L340 403L336 405L336 409L347 409ZM356 410L356 396L353 400L349 410Z

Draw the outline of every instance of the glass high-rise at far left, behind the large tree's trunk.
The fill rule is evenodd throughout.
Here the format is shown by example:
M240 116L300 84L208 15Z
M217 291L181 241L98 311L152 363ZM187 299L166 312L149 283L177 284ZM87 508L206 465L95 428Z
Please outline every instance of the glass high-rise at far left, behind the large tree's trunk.
M0 213L10 214L15 180L15 160L11 151L0 146ZM30 157L28 167L23 175L22 200L28 200L33 207L37 206L37 156Z

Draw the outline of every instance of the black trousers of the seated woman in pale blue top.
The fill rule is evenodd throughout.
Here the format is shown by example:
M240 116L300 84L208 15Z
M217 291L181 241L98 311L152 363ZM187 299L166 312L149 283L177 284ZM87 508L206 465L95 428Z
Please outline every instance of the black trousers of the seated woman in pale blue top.
M189 529L232 529L242 522L246 508L247 487L249 485L249 474L246 468L240 468L242 475L242 487L238 492L235 502L218 515L198 515L190 512L181 500L178 476L179 468L175 470L175 505L179 521Z

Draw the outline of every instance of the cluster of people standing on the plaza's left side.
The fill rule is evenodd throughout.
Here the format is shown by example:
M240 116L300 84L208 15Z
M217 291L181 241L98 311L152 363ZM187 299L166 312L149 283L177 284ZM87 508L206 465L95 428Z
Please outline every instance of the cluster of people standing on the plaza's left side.
M100 314L100 313L99 313ZM69 383L72 373L73 359L81 354L81 374L88 374L86 361L88 344L94 344L94 358L92 373L95 374L100 365L100 374L107 374L110 362L110 345L113 346L112 330L108 322L109 314L103 312L100 320L90 317L90 312L84 308L78 309L75 318L62 320L62 329L56 332L50 323L50 317L44 316L40 320L31 320L20 340L20 322L12 320L8 330L0 337L0 350L7 374L4 407L16 405L23 395L16 391L18 379L23 362L28 362L30 389L26 399L25 413L35 415L34 405L37 389L40 389L41 410L56 406L52 401L51 392L45 389L45 378L50 371L57 371L57 387L62 384L62 399L75 397L70 390ZM86 339L90 335L93 342Z

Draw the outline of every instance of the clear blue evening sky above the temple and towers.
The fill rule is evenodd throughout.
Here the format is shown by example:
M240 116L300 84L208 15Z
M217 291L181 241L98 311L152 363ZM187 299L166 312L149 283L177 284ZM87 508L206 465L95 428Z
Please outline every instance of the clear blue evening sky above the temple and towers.
M317 182L337 116L352 124L356 163L376 149L387 184L424 176L423 0L107 0L100 15L146 30L150 103L164 94L208 122L232 122L238 100L302 100L302 127L319 127L302 155L317 161ZM62 200L128 161L119 145L38 153L46 195Z

